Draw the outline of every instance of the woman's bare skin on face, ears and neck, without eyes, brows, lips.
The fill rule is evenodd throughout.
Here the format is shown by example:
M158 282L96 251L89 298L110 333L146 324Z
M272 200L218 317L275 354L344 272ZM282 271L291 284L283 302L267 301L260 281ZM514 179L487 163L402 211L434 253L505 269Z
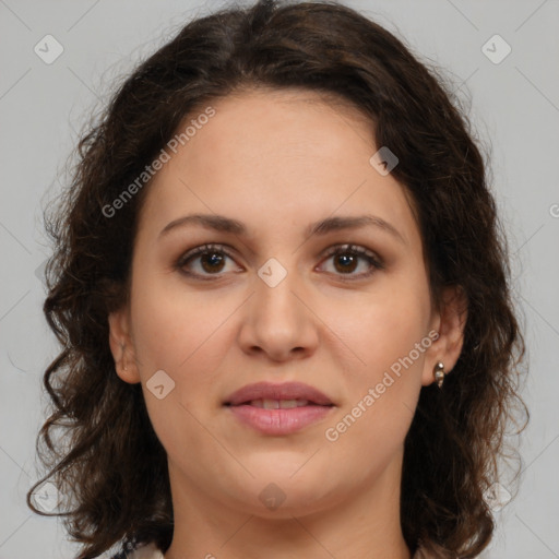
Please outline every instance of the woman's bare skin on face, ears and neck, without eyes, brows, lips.
M212 106L216 115L148 187L130 305L109 317L117 373L142 383L168 455L175 533L165 557L255 559L265 549L270 559L409 559L400 524L404 438L436 362L450 371L459 358L463 301L448 289L435 308L408 199L369 164L379 146L355 108L301 91L250 91ZM192 213L233 217L248 234L189 225L159 236ZM374 226L306 235L319 219L362 214L401 238ZM231 258L185 266L209 281L181 274L177 260L207 242ZM324 255L344 243L372 251L383 269L359 258L345 272L340 257ZM275 287L258 275L270 258L287 272ZM325 430L430 331L439 338L328 440ZM162 369L175 389L159 400L146 382ZM325 419L272 437L222 405L248 383L292 380L335 403ZM259 499L271 483L285 496L276 510Z

